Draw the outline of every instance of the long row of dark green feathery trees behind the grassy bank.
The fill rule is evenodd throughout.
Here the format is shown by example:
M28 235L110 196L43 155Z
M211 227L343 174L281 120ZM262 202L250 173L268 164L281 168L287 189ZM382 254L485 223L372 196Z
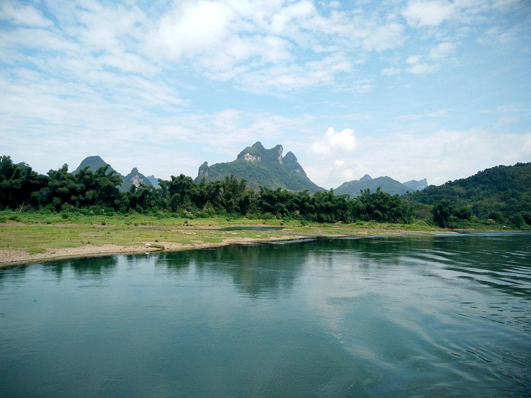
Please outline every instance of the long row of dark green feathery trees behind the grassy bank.
M160 188L131 186L119 191L121 177L108 166L89 167L69 173L68 166L39 175L25 163L10 157L0 159L0 209L45 209L87 214L139 212L180 213L190 217L213 214L246 215L256 218L292 218L320 222L378 221L408 223L412 210L398 195L377 190L358 198L333 191L293 192L286 189L250 188L234 176L195 184L191 177L172 176L159 180Z

